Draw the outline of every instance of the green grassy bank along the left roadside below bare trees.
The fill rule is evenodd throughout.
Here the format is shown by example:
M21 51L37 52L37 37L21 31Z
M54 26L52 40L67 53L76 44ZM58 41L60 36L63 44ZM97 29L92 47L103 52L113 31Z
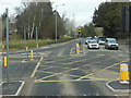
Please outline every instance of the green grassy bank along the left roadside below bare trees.
M71 39L72 38L70 38L70 37L62 37L62 38L58 39L58 42L64 42L64 41L71 40ZM56 40L55 39L38 40L39 47L51 45L51 44L56 44ZM2 45L5 46L5 41L2 41ZM25 49L25 45L28 48L35 48L36 40L26 40L26 41L24 41L22 39L21 40L10 40L9 48L10 48L10 50ZM5 47L3 50L5 50Z

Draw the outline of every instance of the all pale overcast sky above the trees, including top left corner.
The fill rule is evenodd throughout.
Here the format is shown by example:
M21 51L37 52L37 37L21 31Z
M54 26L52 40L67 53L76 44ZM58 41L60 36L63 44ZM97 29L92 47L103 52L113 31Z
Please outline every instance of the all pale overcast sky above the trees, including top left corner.
M0 14L4 12L5 8L9 8L9 12L14 13L14 8L21 4L22 0L0 0ZM43 1L43 0L41 0ZM57 7L60 15L63 13L66 17L74 19L76 26L87 24L92 22L92 16L95 8L102 2L109 0L50 0L53 2L52 8ZM62 5L66 4L66 5Z

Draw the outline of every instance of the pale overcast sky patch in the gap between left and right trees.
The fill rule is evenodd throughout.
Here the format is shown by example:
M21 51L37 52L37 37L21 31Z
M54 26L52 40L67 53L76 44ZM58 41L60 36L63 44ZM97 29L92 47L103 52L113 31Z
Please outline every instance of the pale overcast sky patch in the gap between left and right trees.
M60 15L66 13L69 19L74 19L76 26L92 22L92 16L95 8L106 0L51 0L55 5L59 5L58 12ZM61 5L66 4L66 5Z

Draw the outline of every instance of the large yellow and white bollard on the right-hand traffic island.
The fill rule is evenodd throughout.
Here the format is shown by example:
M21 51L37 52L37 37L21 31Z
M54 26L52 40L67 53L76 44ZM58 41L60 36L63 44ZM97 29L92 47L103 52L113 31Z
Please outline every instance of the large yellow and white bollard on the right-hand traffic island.
M120 83L129 84L129 69L127 63L120 64Z

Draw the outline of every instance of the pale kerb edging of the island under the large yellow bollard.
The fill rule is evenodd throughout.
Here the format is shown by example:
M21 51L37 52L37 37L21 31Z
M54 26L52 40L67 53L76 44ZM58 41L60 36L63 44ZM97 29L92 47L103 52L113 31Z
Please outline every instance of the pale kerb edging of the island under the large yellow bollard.
M114 89L114 88L109 85L109 83L111 83L111 82L117 82L117 81L119 81L119 79L109 81L109 82L106 83L106 86L107 86L110 90L112 90L114 93L131 93L131 89Z

